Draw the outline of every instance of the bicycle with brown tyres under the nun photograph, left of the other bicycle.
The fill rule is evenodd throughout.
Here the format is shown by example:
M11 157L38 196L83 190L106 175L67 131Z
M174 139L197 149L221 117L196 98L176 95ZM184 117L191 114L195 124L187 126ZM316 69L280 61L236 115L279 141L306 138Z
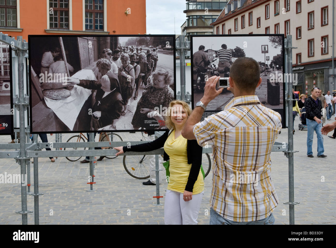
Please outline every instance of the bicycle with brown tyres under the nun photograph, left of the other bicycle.
M83 133L79 133L79 135L74 135L72 137L70 137L67 142L85 142L84 138L86 139L86 141L88 140L87 137L85 136L85 134ZM106 133L106 132L102 132L99 133L99 141L123 141L123 139L116 133ZM86 147L76 147L76 148L68 148L68 150L73 150L73 151L77 151L77 150L85 150ZM113 147L102 147L101 149L113 149ZM66 150L66 148L64 148L64 151ZM80 157L66 157L66 159L68 159L69 161L75 162L77 160L79 160L82 156ZM106 156L106 158L108 159L113 159L116 158L118 156Z

